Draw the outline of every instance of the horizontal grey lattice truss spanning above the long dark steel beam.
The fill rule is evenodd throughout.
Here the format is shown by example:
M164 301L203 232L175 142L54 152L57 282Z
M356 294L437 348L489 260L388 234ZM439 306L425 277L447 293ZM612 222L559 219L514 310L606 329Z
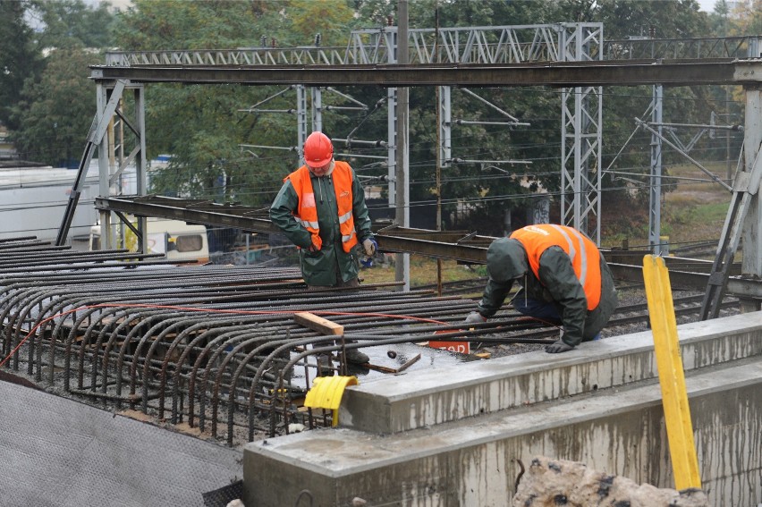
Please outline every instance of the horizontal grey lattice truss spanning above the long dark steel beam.
M560 23L560 26L566 23ZM559 25L410 29L409 63L529 63L558 61ZM243 47L109 51L106 66L290 66L388 63L396 27L354 30L346 47ZM758 58L758 36L628 38L603 41L604 60Z

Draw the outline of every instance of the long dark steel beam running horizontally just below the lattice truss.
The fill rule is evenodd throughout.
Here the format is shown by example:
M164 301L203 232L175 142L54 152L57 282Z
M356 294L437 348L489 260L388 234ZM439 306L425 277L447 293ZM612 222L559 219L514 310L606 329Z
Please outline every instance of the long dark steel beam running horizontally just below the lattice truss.
M180 82L186 84L339 86L664 86L750 84L762 80L762 63L732 59L543 62L451 65L292 65L108 67L93 65L96 81Z

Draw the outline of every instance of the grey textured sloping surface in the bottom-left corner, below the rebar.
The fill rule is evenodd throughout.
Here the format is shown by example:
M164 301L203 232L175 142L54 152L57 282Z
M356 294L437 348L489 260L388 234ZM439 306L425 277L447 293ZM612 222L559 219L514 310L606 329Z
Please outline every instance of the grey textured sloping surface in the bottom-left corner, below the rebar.
M203 506L241 450L0 382L3 507Z

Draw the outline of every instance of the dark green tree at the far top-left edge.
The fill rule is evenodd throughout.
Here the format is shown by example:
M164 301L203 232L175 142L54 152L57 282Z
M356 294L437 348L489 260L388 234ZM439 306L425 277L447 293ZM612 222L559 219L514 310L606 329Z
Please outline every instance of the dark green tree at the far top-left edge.
M34 34L24 21L28 2L0 0L0 123L18 128L12 108L21 97L24 80L35 80L42 64Z

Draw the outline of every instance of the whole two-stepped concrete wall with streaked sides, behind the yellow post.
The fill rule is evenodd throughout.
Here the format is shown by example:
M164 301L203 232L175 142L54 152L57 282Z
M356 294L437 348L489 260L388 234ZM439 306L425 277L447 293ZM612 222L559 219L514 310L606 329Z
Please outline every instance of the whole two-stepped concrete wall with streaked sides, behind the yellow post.
M762 312L678 327L702 485L762 502ZM244 448L246 505L505 505L536 455L673 487L650 333L388 377L344 393L342 428Z

